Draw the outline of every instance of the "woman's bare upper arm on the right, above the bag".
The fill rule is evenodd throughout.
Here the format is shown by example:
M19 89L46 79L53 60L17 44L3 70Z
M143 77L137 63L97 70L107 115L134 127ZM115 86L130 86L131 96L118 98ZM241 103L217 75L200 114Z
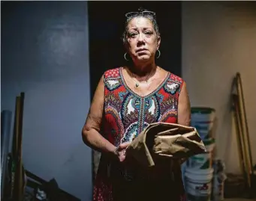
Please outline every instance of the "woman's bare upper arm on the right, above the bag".
M179 93L179 102L178 102L178 123L184 126L190 126L191 121L191 108L190 100L188 97L188 90L186 83L184 81L182 89Z

